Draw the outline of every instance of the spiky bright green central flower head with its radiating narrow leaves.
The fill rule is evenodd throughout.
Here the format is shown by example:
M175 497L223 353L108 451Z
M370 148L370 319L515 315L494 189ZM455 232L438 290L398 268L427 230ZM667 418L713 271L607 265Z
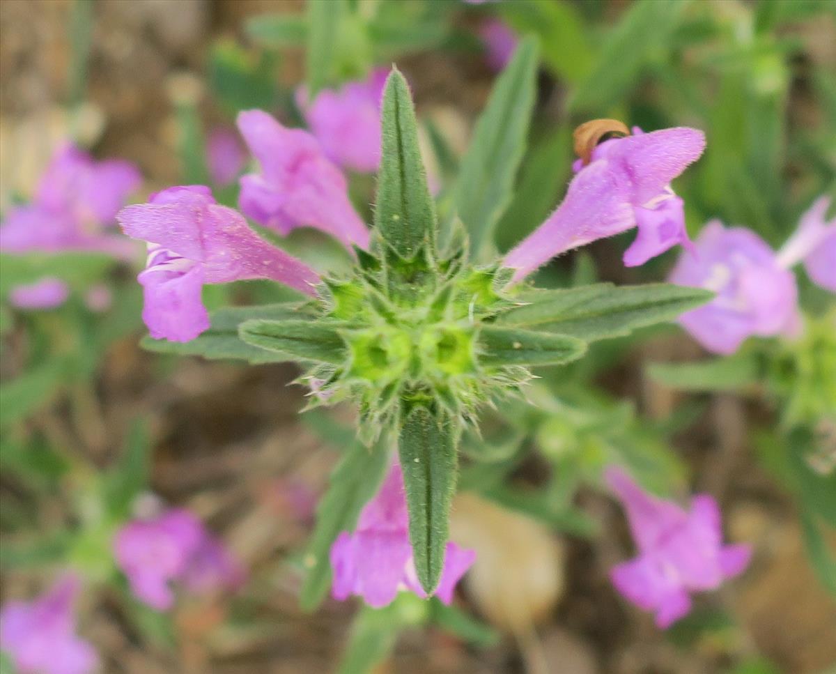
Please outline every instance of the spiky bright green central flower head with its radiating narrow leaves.
M295 360L307 367L301 380L314 392L310 406L354 401L359 438L372 447L365 451L386 452L387 443L398 444L415 569L428 594L443 568L461 431L475 426L477 411L518 396L533 377L532 367L571 362L591 341L675 319L711 297L704 290L666 284L537 290L512 285L511 270L498 261L476 262L492 250L492 225L507 206L503 195L513 173L504 167L494 175L494 167L480 162L520 154L535 51L524 41L492 94L478 125L485 145L477 153L480 160L465 162L456 191L460 210L466 202L468 222L462 225L456 213L449 214L443 246L418 151L412 100L395 70L383 100L375 229L370 250L355 251L353 270L324 278L314 300L222 309L213 314L212 328L187 345L147 341L155 350L212 358ZM523 120L517 119L523 111L507 100L520 90L528 92ZM512 125L502 121L508 115ZM480 217L488 220L474 220ZM470 236L477 237L477 250ZM369 483L380 478L384 463L374 465ZM332 489L342 488L334 483ZM360 505L352 504L350 518ZM330 524L349 524L348 514L339 517L339 523L318 528L323 539L314 554L319 580L308 592L310 603L321 593L324 543L337 531Z

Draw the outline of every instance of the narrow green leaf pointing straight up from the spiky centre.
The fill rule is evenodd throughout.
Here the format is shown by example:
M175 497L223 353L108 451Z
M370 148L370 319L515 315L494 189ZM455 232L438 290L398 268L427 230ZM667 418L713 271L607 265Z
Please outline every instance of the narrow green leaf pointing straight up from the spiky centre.
M395 252L410 259L423 243L434 242L436 208L418 149L409 86L397 69L386 80L381 125L375 227Z

